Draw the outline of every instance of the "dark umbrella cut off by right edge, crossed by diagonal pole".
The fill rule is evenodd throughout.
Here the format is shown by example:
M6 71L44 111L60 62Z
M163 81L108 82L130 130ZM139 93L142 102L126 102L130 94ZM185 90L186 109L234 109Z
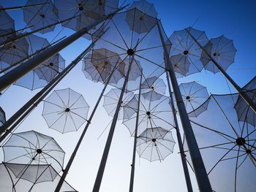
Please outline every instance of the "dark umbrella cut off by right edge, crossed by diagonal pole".
M243 88L246 95L249 96L250 99L254 103L256 103L256 77L250 80ZM237 112L238 120L244 121L246 123L250 123L252 126L256 126L256 115L255 112L246 104L246 101L238 97L236 101L235 109Z

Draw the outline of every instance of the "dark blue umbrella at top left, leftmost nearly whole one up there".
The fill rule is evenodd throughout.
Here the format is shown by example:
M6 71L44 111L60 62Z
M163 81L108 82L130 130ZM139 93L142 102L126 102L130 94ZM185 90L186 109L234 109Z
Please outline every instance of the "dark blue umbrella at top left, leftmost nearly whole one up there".
M26 5L29 4L42 4L34 7L23 8L24 21L27 23L28 26L30 26L32 30L43 28L45 26L49 26L50 24L57 23L59 21L59 12L53 5L52 1L28 0L26 2ZM55 26L51 26L39 32L41 34L45 34L50 31L53 31L54 28Z

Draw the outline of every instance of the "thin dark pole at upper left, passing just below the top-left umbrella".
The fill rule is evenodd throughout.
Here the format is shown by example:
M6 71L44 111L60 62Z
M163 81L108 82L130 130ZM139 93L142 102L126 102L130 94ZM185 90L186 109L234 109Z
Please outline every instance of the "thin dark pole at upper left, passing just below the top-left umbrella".
M78 16L80 16L80 15L76 15L76 16L74 16L74 17L72 17L72 18L68 18L68 19L65 19L65 20L58 21L58 22L56 22L56 23L50 24L49 26L44 26L44 27L42 27L42 28L38 28L38 29L36 29L36 30L34 30L34 31L30 31L30 32L27 32L27 33L24 33L24 34L19 34L19 35L17 35L17 36L12 37L12 38L8 38L5 42L2 42L2 43L0 44L0 47L3 47L4 45L8 45L8 44L10 44L10 43L12 43L12 42L15 42L15 41L18 40L18 39L22 39L22 38L27 37L27 36L29 36L29 35L31 35L31 34L34 34L34 33L37 33L37 32L39 32L39 31L42 31L42 30L44 30L44 29L46 29L46 28L50 28L50 27L56 26L56 25L58 25L58 24L60 24L60 23L64 23L64 22L66 22L66 21L68 21L68 20L72 20L73 18L77 18ZM24 29L25 29L25 28L24 28Z

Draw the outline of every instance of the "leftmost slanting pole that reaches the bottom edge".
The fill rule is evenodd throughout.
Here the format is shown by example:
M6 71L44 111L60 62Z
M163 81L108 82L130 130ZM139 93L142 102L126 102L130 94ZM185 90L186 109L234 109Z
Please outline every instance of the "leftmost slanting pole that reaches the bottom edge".
M116 66L118 66L118 62L116 63ZM78 152L78 149L79 149L79 147L80 147L80 144L81 144L81 142L83 141L83 137L84 137L85 134L86 134L87 128L88 128L89 125L91 124L91 120L92 120L92 118L94 117L94 113L95 113L96 110L97 110L97 107L98 107L98 105L99 105L99 102L100 102L100 100L102 99L102 96L103 96L103 94L104 94L106 88L108 87L108 82L110 82L110 79L111 79L113 73L114 73L115 70L116 70L116 66L114 67L113 71L111 72L110 76L108 77L107 82L105 82L105 86L104 86L104 88L102 89L102 93L100 93L99 99L98 99L97 103L96 103L95 106L94 106L94 110L92 110L91 115L90 115L90 118L89 118L89 120L87 120L86 126L85 126L85 128L83 129L83 133L81 134L80 139L78 140L78 143L77 143L77 145L75 146L75 150L73 151L72 155L71 155L70 158L69 158L69 161L68 161L68 163L67 163L67 166L66 166L66 168L64 169L63 174L61 175L61 179L59 180L59 183L58 183L58 185L56 186L55 192L59 192L59 191L61 190L61 186L62 186L63 183L64 183L64 180L65 180L65 178L66 178L66 176L67 176L67 173L69 172L70 166L72 165L72 162L74 161L75 155L76 155L76 153Z

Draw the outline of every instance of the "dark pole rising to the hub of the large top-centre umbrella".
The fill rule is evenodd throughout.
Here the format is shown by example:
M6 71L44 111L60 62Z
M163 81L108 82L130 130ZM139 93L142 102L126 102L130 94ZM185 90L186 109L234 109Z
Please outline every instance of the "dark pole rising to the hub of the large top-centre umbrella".
M100 161L100 164L99 164L97 177L96 177L96 180L95 180L95 183L94 183L94 189L92 190L93 192L99 192L99 188L100 188L100 185L102 183L102 177L103 177L103 174L104 174L104 171L105 171L105 166L106 166L107 159L108 159L108 153L109 153L109 150L110 150L110 145L111 145L111 142L112 142L112 139L113 139L113 134L114 134L114 131L115 131L115 128L116 128L118 113L119 113L119 110L121 108L121 101L122 101L123 96L124 96L125 88L127 87L127 82L129 80L129 72L130 72L131 66L132 66L131 58L129 60L130 60L129 61L129 67L128 67L128 70L127 70L127 74L126 74L126 77L125 77L125 80L124 80L123 87L121 89L121 94L120 94L119 99L118 99L118 104L116 106L116 112L113 116L113 120L112 120L112 123L111 123L111 126L110 126L110 131L108 133L108 139L107 139L107 142L106 142L106 145L105 145L105 148L104 148L104 151L103 151L103 155L102 155L102 160Z

